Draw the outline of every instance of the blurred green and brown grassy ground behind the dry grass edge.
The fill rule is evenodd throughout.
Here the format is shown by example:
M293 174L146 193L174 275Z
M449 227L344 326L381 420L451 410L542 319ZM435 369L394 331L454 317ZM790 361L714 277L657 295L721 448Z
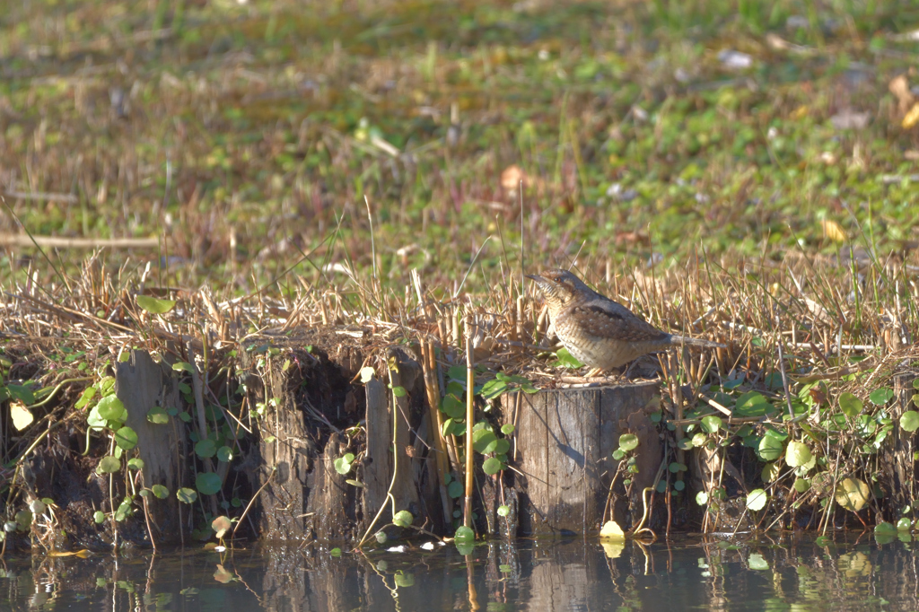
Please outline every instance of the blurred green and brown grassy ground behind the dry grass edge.
M365 198L395 287L452 284L488 236L469 287L518 269L521 199L528 267L915 259L919 139L889 87L919 83L916 28L919 3L854 0L17 1L0 231L162 236L134 261L232 292L312 249L369 269Z

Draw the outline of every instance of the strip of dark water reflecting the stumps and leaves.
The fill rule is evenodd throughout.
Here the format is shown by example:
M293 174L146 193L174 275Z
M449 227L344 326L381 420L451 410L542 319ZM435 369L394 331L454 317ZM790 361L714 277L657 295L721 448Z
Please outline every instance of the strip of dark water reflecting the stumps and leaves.
M601 546L583 539L405 552L261 547L9 558L0 610L919 609L913 542L845 534Z

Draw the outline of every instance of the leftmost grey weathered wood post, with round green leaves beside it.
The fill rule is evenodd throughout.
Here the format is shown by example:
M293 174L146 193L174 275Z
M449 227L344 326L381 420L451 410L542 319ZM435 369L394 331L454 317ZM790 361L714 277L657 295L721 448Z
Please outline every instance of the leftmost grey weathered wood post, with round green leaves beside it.
M131 351L130 359L115 367L115 394L128 413L126 425L137 434L137 449L143 460L143 485L162 484L169 493L186 485L187 452L185 427L170 418L167 425L147 421L153 406L166 410L182 405L178 380L165 363L156 363L146 351ZM158 528L158 543L175 542L181 533L179 504L170 495L158 499L147 497L150 516Z

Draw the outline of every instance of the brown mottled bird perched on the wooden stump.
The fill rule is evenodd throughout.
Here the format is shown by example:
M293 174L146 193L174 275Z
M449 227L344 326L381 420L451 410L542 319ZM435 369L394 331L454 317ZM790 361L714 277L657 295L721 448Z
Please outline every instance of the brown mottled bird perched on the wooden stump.
M562 345L578 361L596 370L618 368L669 346L724 347L717 342L662 332L566 270L546 270L527 278L535 280L542 291Z

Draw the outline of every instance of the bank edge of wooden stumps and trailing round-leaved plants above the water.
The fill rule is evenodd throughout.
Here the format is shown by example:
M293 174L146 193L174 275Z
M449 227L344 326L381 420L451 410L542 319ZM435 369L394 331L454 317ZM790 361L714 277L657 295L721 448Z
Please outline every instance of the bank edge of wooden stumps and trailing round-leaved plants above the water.
M6 546L451 536L463 503L465 424L454 404L464 402L465 366L450 346L435 346L432 369L419 344L373 338L329 328L153 355L103 350L96 375L46 393L40 408L27 404L41 393L7 382ZM7 380L39 377L28 353L5 358ZM821 440L812 424L775 412L675 418L674 390L660 380L564 389L560 376L538 390L500 371L475 372L480 536L591 535L610 519L656 535L862 527L896 522L913 500L914 436L897 426L914 408L909 373L891 379L880 416L852 417L878 432L869 480L838 459L865 451L842 427ZM25 408L34 423L11 435ZM783 435L766 452L769 436ZM812 449L809 469L786 459L796 439ZM827 439L818 456L814 442ZM751 504L756 490L762 507Z

